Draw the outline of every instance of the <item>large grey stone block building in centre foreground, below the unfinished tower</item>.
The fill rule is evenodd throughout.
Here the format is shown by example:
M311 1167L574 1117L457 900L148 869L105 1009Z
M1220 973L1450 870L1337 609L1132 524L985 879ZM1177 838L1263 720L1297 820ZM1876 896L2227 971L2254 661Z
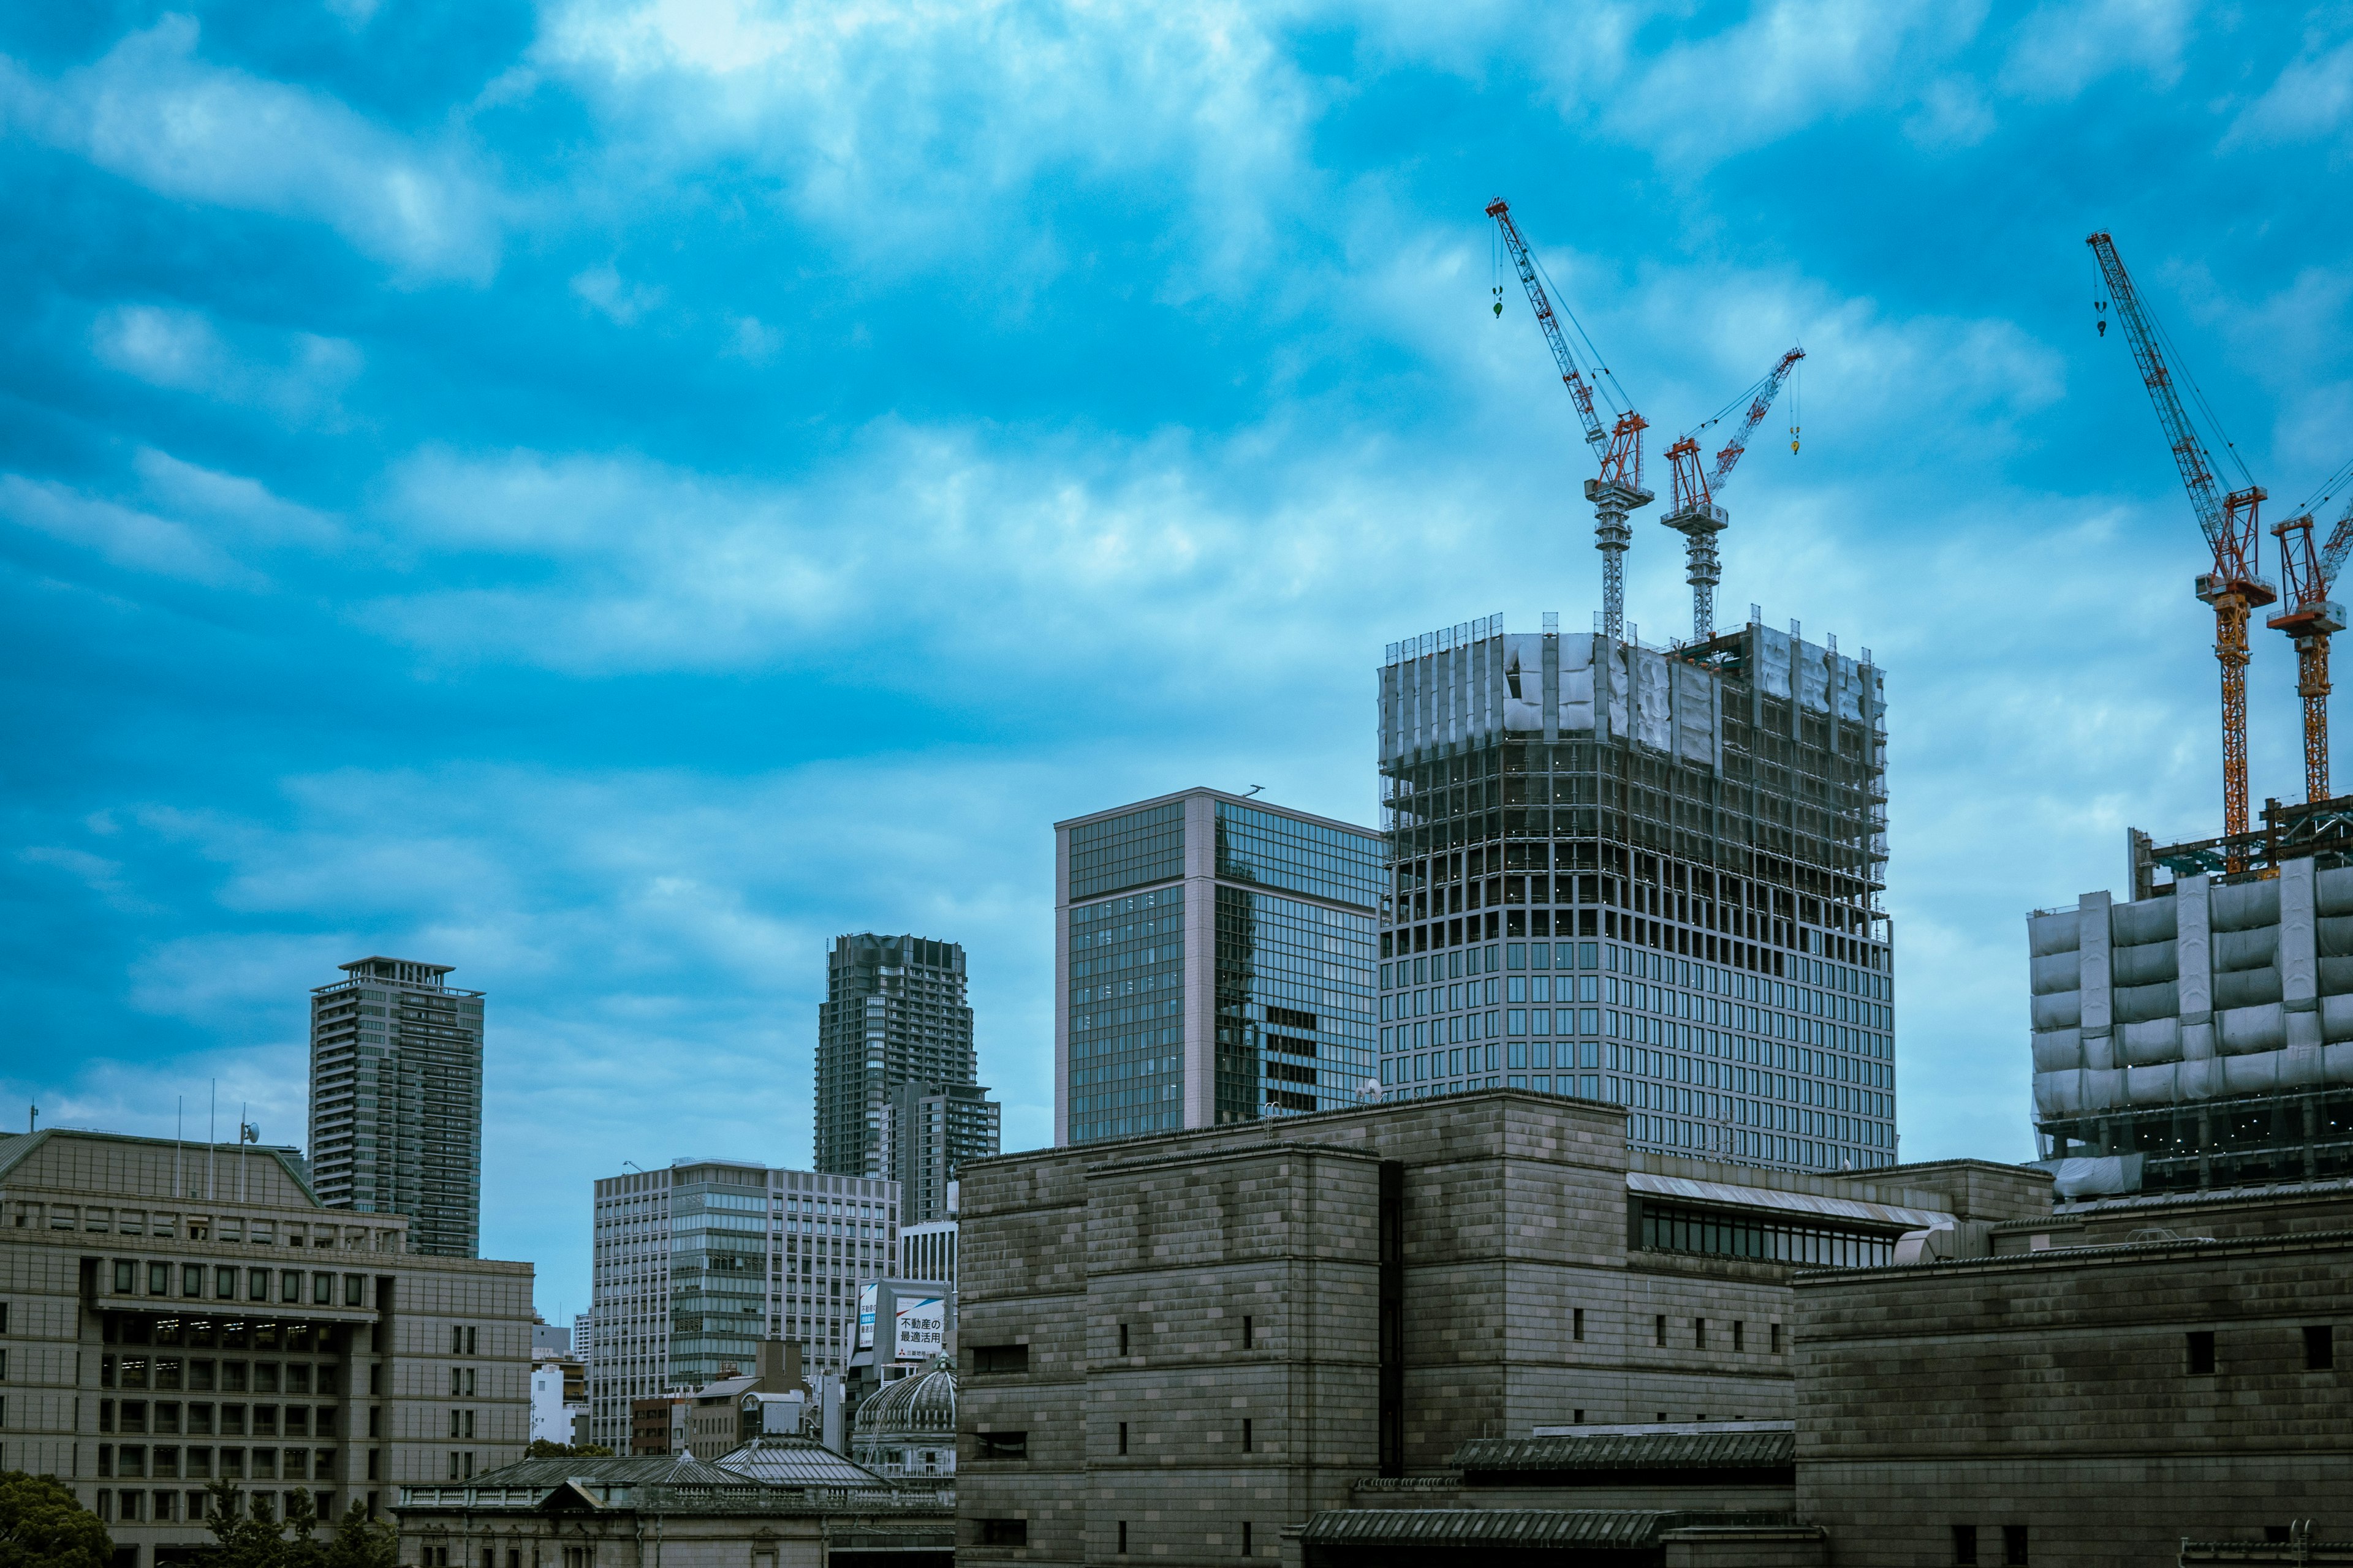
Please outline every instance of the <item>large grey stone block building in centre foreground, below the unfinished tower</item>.
M2042 1215L2040 1171L1805 1175L1485 1091L972 1166L960 1556L1212 1561L1537 1427L1791 1420L1791 1276Z

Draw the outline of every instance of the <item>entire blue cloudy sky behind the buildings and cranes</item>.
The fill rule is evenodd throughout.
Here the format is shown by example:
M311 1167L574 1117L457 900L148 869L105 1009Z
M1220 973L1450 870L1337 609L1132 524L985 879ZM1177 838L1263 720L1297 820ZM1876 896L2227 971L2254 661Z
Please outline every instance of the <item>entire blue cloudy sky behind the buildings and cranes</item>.
M12 7L0 1095L299 1140L306 990L456 964L553 1316L593 1175L807 1161L824 943L913 929L1045 1143L1054 818L1369 823L1386 639L1588 621L1501 193L1661 435L1805 343L1722 604L1887 668L1904 1152L2026 1159L2024 910L2219 818L2082 237L2292 503L2348 125L2346 7Z

